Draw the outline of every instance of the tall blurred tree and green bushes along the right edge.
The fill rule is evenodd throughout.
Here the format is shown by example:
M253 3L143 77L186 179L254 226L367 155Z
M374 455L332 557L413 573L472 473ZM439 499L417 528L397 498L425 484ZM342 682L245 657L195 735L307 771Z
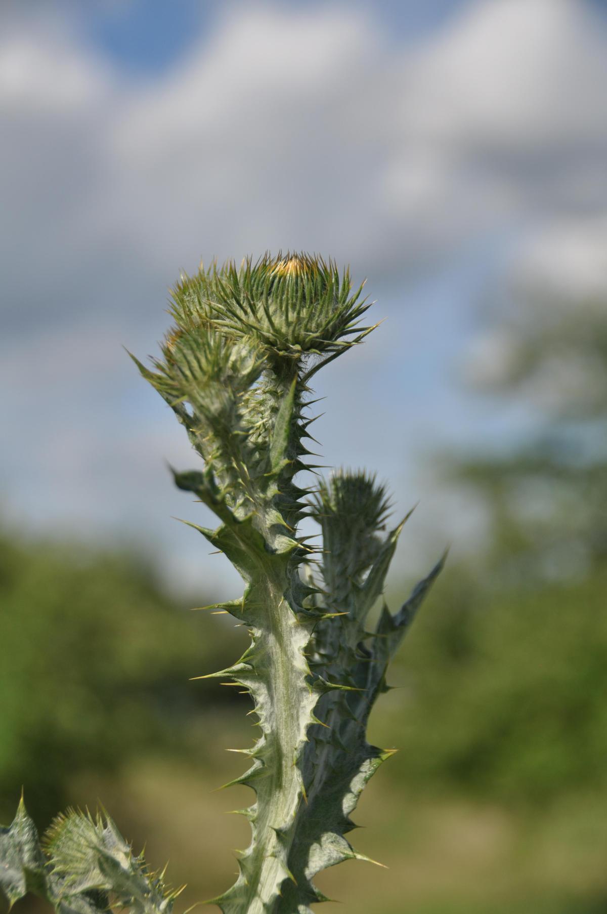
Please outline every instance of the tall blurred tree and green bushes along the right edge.
M454 460L489 536L410 634L403 779L546 802L607 792L607 309L522 295L473 361L536 416L510 452Z

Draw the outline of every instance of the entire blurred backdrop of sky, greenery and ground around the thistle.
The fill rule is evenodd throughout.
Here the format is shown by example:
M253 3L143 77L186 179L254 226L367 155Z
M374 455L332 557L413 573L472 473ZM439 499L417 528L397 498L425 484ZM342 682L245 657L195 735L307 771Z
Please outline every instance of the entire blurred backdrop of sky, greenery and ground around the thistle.
M0 822L101 801L185 910L248 826L240 581L136 377L183 266L350 262L387 323L317 378L320 462L451 541L327 914L607 914L607 2L0 2ZM26 914L31 902L20 903ZM323 910L322 908L320 910ZM17 912L18 914L18 912Z

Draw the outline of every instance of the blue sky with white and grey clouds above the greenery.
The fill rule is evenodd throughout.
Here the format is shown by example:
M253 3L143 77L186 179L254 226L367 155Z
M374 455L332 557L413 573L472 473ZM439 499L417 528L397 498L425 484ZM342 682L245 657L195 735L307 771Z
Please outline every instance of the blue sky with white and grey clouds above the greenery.
M521 279L605 290L606 84L600 0L5 0L5 522L229 588L171 519L208 522L166 471L196 456L123 347L156 351L180 271L290 248L349 262L386 319L316 376L325 462L420 502L403 569L465 540L437 458L537 422L464 383L504 358L496 310Z

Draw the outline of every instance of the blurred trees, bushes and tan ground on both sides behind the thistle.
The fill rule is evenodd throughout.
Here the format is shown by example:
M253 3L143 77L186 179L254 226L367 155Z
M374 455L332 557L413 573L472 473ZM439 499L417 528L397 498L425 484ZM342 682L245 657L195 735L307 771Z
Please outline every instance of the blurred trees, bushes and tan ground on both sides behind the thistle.
M495 396L516 399L555 335L604 357L602 321L580 334L525 314ZM445 481L484 505L485 536L472 553L455 544L373 717L370 738L400 751L354 840L389 869L319 878L353 914L607 911L607 400L594 393L574 413L563 393L512 452L442 455ZM0 555L3 821L22 784L40 826L101 800L154 864L170 859L185 907L217 894L247 841L224 814L245 789L214 791L240 770L223 749L248 744L248 699L188 677L227 664L242 632L188 611L213 594L177 599L134 552L6 528ZM393 609L408 586L392 575Z

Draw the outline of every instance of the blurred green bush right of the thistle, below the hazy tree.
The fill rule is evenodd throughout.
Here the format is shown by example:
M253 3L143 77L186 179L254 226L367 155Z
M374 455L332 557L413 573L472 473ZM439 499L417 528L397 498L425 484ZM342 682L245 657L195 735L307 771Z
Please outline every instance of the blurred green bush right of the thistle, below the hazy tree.
M392 674L394 770L492 801L607 802L605 593L607 569L498 592L448 572Z

